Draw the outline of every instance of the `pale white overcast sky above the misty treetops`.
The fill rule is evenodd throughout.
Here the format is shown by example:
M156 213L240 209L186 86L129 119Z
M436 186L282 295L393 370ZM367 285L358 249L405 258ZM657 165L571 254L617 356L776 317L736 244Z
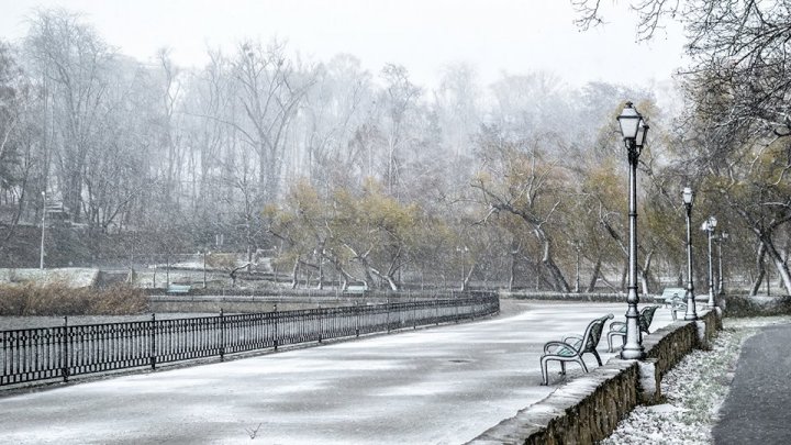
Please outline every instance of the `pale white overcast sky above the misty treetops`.
M278 37L314 62L349 53L375 74L400 64L427 87L455 62L482 82L536 70L570 85L669 79L683 64L680 29L637 44L624 3L602 2L610 23L580 32L569 0L0 0L0 38L23 36L34 8L63 7L143 62L167 46L178 64L200 66L207 47Z

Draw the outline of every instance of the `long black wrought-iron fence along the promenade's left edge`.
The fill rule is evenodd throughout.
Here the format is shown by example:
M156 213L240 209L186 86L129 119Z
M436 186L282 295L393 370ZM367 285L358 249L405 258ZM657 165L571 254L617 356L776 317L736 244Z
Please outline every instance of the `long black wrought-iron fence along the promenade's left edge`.
M193 319L0 331L0 386L458 322L497 313L494 293Z

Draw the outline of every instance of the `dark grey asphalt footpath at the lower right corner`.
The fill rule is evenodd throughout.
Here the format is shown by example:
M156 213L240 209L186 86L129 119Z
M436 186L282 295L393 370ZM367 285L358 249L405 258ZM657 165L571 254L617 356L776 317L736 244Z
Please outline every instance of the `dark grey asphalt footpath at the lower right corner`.
M791 443L790 353L791 324L747 338L712 432L716 445Z

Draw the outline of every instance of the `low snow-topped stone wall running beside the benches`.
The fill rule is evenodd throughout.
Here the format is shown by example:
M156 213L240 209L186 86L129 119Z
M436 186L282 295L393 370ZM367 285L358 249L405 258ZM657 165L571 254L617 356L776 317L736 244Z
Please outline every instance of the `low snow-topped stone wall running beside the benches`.
M659 381L693 348L705 348L722 326L718 311L677 321L646 336L645 360L614 357L502 421L471 444L592 444L608 437L638 403L660 397Z

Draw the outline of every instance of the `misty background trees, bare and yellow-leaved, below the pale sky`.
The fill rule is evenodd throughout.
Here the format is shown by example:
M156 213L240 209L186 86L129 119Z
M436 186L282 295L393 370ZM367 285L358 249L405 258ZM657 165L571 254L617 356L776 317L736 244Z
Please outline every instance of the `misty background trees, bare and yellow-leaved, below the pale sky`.
M731 233L732 279L756 291L770 262L791 287L787 62L743 48L728 70L706 66L725 31L700 30L693 73L654 90L545 73L481 87L464 64L428 90L399 65L310 62L278 41L182 69L167 49L145 63L119 54L69 11L36 11L29 26L0 44L0 255L41 224L46 200L85 234L69 248L94 263L207 249L254 262L267 249L293 286L620 291L627 163L615 116L632 100L651 125L643 291L686 279L686 186L693 222L715 214Z

